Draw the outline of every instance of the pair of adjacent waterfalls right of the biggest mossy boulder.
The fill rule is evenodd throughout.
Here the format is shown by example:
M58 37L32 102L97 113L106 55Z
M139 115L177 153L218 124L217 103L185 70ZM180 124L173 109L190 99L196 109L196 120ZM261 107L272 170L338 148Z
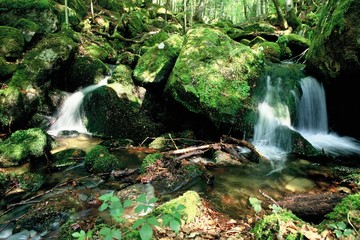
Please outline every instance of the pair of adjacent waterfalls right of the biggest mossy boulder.
M295 127L291 124L288 106L280 100L281 94L284 94L280 78L274 84L267 77L266 94L258 104L253 144L271 161L275 168L273 171L282 169L286 155L291 151L291 136L277 131L284 126L299 132L316 149L330 156L360 155L358 140L329 132L326 96L322 84L313 77L305 77L301 79L300 85L302 96L298 101Z

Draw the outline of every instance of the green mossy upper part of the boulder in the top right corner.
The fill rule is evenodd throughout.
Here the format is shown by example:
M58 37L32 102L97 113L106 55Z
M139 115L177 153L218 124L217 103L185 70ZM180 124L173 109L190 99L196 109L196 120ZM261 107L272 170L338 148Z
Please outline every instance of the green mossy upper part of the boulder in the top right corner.
M325 78L360 73L360 2L331 0L322 5L306 55L309 71ZM320 74L319 74L320 73Z

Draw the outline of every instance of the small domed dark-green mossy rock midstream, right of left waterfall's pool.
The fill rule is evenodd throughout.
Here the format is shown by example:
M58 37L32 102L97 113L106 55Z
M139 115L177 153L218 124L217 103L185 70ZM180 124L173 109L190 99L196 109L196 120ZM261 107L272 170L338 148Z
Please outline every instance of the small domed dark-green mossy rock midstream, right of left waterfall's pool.
M109 173L126 167L119 159L110 154L107 147L101 145L93 147L86 154L85 166L93 173Z

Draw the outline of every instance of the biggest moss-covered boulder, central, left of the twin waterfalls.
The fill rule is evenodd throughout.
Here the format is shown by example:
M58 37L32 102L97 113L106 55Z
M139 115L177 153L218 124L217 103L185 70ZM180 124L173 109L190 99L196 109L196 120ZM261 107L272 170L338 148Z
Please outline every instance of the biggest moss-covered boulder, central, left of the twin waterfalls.
M263 55L221 31L195 28L171 72L166 93L217 126L244 123L250 92L263 69ZM241 124L239 123L241 122Z

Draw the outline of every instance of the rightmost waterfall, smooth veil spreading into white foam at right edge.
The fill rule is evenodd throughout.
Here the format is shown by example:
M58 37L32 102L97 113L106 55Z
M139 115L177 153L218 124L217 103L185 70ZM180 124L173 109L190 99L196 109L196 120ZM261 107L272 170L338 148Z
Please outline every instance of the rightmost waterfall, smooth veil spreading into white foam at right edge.
M360 142L329 132L325 91L313 77L301 79L303 95L297 115L297 131L315 148L332 156L360 155Z

